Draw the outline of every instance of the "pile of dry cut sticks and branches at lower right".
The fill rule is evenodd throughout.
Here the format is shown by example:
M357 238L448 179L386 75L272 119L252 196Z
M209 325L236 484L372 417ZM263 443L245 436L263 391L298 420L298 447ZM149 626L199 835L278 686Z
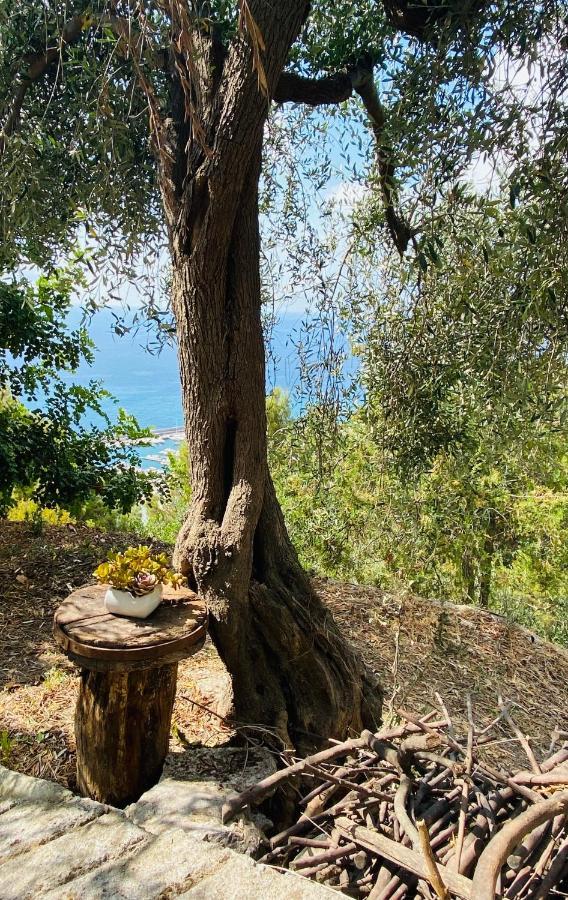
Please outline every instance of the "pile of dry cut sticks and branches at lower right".
M288 760L229 800L224 819L309 779L297 822L271 839L262 862L370 900L568 896L568 734L555 732L539 762L501 700L478 730L468 699L462 737L440 704L437 721L401 710L398 727ZM485 761L501 724L523 747L526 771Z

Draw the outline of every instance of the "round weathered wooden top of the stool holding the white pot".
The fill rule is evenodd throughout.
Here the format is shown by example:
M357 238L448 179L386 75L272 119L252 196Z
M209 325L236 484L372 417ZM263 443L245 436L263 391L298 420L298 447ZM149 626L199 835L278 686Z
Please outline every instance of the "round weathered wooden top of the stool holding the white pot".
M107 587L74 591L55 613L53 636L78 665L124 672L168 665L196 653L207 634L205 603L188 588L164 587L162 603L147 619L114 616L104 607Z

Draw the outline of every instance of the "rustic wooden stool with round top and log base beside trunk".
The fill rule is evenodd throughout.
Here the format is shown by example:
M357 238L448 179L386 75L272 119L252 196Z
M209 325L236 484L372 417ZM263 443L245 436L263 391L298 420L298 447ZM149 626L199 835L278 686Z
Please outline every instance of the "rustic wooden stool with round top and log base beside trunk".
M160 778L177 664L203 646L207 612L193 591L165 586L166 602L147 619L123 618L107 613L105 592L105 585L88 585L70 594L55 613L53 635L81 668L75 710L79 790L126 806Z

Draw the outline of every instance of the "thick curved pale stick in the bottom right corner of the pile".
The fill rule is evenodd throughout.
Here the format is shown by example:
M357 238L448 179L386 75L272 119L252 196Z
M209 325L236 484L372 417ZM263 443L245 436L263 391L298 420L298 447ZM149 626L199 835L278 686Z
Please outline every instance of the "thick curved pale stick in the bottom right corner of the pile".
M472 900L494 900L497 878L511 850L514 850L534 828L566 812L568 812L568 791L560 791L550 800L542 800L530 806L515 819L507 822L489 841L479 858L473 876Z

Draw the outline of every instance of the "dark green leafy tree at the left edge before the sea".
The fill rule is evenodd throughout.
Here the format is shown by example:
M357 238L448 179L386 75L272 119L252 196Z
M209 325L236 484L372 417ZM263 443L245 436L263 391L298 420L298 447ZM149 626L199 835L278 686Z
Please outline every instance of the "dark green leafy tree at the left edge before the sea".
M95 494L123 511L152 491L128 445L146 432L122 410L111 423L95 382L69 382L91 353L86 331L66 327L74 285L68 271L35 286L0 282L1 513L17 501L16 488L42 506L72 508ZM101 427L84 424L89 412Z

